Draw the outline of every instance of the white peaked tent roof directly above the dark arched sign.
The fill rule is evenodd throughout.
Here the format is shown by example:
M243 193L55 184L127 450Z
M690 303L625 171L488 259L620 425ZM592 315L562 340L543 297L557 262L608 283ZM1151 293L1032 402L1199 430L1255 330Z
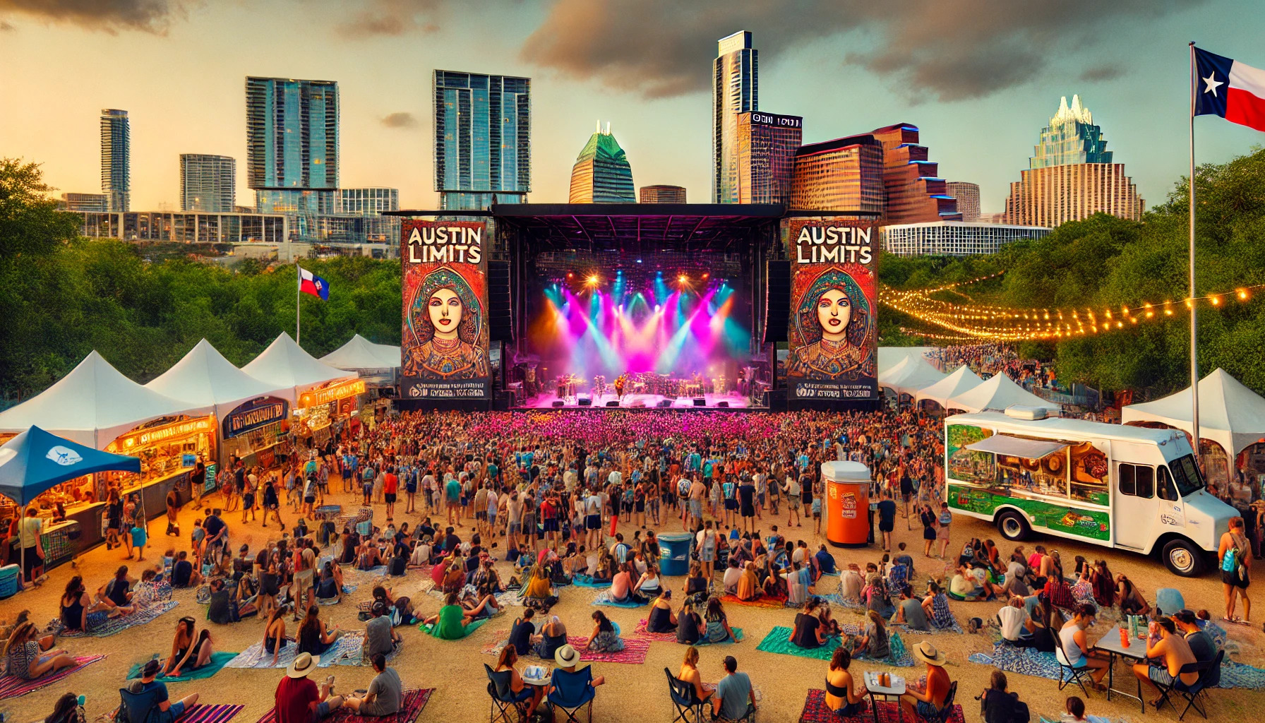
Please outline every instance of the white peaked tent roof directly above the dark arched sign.
M221 420L242 403L258 396L295 401L293 387L254 379L233 366L206 339L197 342L183 358L145 386L191 404L213 405Z

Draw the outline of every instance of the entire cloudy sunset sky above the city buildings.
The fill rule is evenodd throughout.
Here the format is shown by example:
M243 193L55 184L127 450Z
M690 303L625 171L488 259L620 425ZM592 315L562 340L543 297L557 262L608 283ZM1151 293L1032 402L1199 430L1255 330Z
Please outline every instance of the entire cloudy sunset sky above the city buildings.
M238 158L247 75L335 80L342 185L434 208L431 71L533 79L533 201L564 201L597 119L638 185L710 200L715 41L749 29L760 110L805 141L918 125L940 175L1002 210L1079 92L1147 205L1187 170L1187 41L1265 67L1259 0L0 0L0 156L62 191L100 187L97 118L132 119L132 208L178 205L178 154ZM1198 158L1265 138L1197 120Z

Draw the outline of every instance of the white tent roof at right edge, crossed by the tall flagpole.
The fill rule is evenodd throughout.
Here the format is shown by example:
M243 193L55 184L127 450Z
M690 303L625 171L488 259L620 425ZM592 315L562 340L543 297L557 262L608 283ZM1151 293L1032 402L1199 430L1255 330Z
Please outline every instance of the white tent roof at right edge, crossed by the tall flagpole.
M1121 422L1159 422L1190 433L1190 387L1121 409ZM1265 399L1222 368L1199 380L1199 437L1233 457L1265 438Z

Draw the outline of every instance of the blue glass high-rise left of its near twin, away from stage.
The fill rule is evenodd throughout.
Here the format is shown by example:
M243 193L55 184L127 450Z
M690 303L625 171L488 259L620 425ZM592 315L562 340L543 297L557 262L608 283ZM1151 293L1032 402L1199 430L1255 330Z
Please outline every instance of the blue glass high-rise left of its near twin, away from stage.
M247 186L259 213L318 214L338 187L338 82L245 79Z

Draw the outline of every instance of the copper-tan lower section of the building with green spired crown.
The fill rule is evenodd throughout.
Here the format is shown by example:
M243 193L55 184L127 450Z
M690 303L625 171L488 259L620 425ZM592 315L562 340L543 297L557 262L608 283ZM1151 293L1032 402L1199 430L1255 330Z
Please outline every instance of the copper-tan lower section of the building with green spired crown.
M1144 208L1123 163L1066 163L1020 171L1003 223L1054 228L1097 213L1141 220Z

